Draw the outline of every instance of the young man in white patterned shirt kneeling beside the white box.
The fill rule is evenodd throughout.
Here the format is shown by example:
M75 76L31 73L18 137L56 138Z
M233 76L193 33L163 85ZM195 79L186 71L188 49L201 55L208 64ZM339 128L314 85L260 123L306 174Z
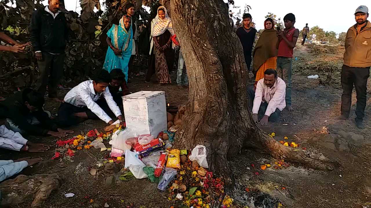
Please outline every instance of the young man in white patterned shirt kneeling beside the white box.
M75 125L87 119L101 119L109 125L116 118L122 121L121 111L108 89L110 82L108 71L102 70L93 81L83 81L72 88L59 107L59 125Z

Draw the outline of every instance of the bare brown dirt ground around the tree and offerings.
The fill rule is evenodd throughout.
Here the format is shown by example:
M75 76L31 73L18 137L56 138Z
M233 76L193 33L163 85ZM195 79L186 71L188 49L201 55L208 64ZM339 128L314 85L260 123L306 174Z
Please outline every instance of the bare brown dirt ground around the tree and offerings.
M319 130L326 127L329 132L343 130L369 138L371 122L367 117L370 111L370 100L366 107L364 130L358 130L354 124L355 93L353 94L351 117L347 121L334 120L340 111L341 85L340 71L344 47L326 46L330 48L321 53L316 53L312 46L298 46L295 48L292 75L292 107L293 112L283 111L281 118L276 123L269 123L262 127L267 133L275 132L277 140L296 142L300 147L305 147L324 154L326 157L337 161L339 166L334 171L318 171L300 164L290 164L288 168L260 170L260 165L274 164L275 159L259 154L252 150L242 150L237 157L232 158L234 179L236 185L228 189L227 193L234 198L236 207L324 207L324 208L362 208L371 205L371 195L367 194L364 185L371 186L371 152L369 147L350 144L349 151L333 151L319 145L325 134ZM322 50L322 49L321 49ZM322 52L328 53L324 54ZM330 66L331 65L331 66ZM142 66L142 68L145 68ZM330 70L333 68L333 70ZM332 76L328 79L329 72ZM308 79L307 76L318 74L319 79ZM155 83L144 83L143 76L134 76L129 83L130 91L161 90L165 91L167 102L179 105L187 102L188 91L178 89L175 83L175 73L172 74L173 84L162 86ZM327 79L327 80L326 80ZM326 80L326 81L325 81ZM253 80L250 80L250 84ZM370 82L368 82L370 85ZM72 85L72 83L66 84ZM68 86L72 87L72 86ZM368 86L370 87L370 86ZM60 90L61 94L68 90ZM58 104L47 100L46 110L56 113ZM105 124L101 121L86 121L71 128L75 134L87 132L97 128L101 130ZM34 142L46 142L54 145L53 137L29 137ZM26 168L22 174L38 174L63 171L66 176L65 183L41 206L42 208L67 208L67 207L103 207L107 202L110 207L125 207L134 205L135 208L168 208L165 194L158 191L157 184L150 181L132 179L129 181L118 180L116 174L115 186L105 187L105 179L112 175L107 174L97 164L102 162L107 152L97 150L77 151L73 161L50 160L54 150L42 154L19 153L1 150L2 160L16 159L32 156L43 157L44 160L33 168ZM252 166L254 164L254 167ZM76 167L79 167L76 169ZM121 164L123 167L124 165ZM96 168L98 174L89 174L89 168ZM246 189L247 188L247 189ZM248 190L248 191L247 191ZM65 198L65 193L74 193L75 197ZM91 202L91 199L93 201ZM30 207L29 201L14 207ZM253 202L253 203L251 203Z

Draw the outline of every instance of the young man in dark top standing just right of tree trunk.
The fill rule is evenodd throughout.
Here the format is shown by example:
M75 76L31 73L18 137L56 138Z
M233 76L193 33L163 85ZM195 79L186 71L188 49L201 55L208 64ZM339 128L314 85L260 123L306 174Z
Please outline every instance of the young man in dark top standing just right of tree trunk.
M256 29L251 27L251 14L244 14L242 19L243 27L238 28L236 33L242 44L247 70L250 72L251 52L255 40Z

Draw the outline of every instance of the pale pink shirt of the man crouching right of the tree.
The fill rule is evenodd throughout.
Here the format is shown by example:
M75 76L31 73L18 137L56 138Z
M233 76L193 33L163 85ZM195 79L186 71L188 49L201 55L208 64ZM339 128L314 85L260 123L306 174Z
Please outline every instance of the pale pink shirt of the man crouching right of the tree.
M268 117L278 108L280 111L286 107L286 84L281 78L277 77L275 84L268 87L264 84L264 78L260 79L256 84L255 98L253 104L253 114L258 114L260 104L268 103L267 110L264 115Z

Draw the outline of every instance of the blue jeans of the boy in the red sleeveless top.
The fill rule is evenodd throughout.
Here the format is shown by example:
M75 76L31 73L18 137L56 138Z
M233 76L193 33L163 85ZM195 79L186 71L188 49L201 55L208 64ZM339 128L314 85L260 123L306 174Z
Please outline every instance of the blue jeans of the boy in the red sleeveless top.
M291 106L291 68L292 58L277 57L277 75L286 83L286 105Z

